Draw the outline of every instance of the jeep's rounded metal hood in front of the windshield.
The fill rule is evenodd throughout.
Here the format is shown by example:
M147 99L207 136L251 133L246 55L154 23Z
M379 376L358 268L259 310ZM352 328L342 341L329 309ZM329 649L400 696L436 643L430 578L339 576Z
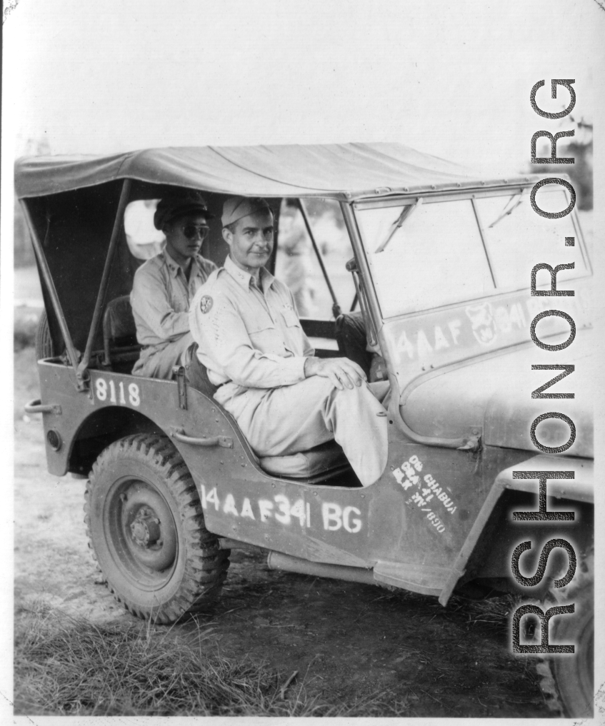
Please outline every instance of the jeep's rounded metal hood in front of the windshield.
M558 412L576 428L574 444L565 454L593 457L592 400L594 370L590 330L578 331L567 350L541 351L529 342L487 354L480 359L437 369L413 381L402 392L400 411L405 423L421 436L455 438L473 428L482 431L487 446L537 452L529 430L537 416ZM532 370L532 364L572 364L575 370L543 393L573 393L573 399L532 399L532 391L561 370ZM548 418L537 425L544 446L563 446L569 425Z

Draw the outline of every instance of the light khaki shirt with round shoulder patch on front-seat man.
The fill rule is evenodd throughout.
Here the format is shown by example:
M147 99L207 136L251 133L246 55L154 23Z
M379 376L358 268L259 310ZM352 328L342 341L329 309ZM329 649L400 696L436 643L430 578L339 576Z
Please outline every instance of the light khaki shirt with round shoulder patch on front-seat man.
M190 330L208 378L221 386L219 403L247 388L304 380L305 359L314 354L288 287L264 268L260 283L227 257L191 303Z

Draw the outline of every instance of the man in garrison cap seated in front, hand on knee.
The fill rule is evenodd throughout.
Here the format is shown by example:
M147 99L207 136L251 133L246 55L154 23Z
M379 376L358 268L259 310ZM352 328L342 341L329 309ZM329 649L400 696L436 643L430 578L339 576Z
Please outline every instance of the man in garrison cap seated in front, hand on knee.
M191 303L198 361L219 386L214 398L260 457L296 454L336 439L364 486L386 466L387 418L371 384L347 358L321 359L304 334L293 296L264 264L273 213L264 199L224 203L230 253ZM375 391L375 392L374 392Z

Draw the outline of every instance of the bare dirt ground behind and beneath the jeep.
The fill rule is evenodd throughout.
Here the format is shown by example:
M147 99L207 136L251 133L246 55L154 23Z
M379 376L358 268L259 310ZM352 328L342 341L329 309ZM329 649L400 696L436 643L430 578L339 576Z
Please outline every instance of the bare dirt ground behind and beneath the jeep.
M15 354L15 607L43 601L96 622L128 621L102 584L86 543L84 481L46 472L33 348ZM551 717L532 661L508 652L505 600L436 600L270 571L262 555L233 552L214 613L182 624L208 647L245 654L285 677L299 672L322 700L389 692L410 716Z

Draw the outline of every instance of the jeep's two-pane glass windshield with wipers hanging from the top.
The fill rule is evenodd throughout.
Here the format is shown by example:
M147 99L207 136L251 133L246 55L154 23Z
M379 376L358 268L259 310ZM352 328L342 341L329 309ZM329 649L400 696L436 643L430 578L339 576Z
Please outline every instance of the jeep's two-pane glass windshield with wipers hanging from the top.
M569 199L563 188L547 187L537 193L537 204L560 211ZM372 200L357 203L355 211L385 318L529 288L538 262L575 264L557 275L559 289L589 272L574 214L538 215L529 188ZM576 248L564 237L574 237ZM548 271L539 273L538 287L547 283Z

